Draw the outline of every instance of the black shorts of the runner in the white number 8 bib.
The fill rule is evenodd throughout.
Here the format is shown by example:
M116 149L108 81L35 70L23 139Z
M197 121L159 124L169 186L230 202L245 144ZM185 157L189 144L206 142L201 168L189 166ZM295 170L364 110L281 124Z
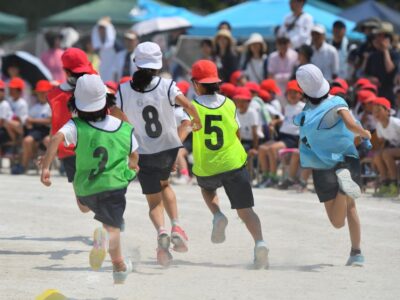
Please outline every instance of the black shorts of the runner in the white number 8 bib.
M138 179L145 195L161 192L161 182L171 175L179 148L166 150L155 154L139 154Z

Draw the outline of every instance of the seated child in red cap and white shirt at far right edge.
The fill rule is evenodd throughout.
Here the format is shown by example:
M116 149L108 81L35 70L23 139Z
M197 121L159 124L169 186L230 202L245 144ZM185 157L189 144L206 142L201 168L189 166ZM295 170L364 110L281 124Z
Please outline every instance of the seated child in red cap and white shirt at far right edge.
M390 116L391 105L386 98L376 98L372 103L377 136L386 141L385 147L373 158L380 177L376 196L397 197L396 159L400 157L400 119Z

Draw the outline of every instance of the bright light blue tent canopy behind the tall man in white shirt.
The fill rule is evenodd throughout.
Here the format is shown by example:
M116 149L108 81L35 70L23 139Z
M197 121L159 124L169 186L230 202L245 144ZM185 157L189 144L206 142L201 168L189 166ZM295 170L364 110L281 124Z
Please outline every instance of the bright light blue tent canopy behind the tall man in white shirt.
M304 10L314 17L315 23L326 27L328 37L332 34L332 24L336 20L344 21L347 28L355 26L353 22L311 4L306 4ZM228 21L233 27L233 35L237 38L247 38L251 33L259 32L265 38L272 39L276 26L281 25L284 17L289 13L289 0L247 1L212 13L199 22L193 22L193 28L189 33L198 36L213 36L218 24L221 21ZM363 37L356 32L349 32L348 36L352 39Z

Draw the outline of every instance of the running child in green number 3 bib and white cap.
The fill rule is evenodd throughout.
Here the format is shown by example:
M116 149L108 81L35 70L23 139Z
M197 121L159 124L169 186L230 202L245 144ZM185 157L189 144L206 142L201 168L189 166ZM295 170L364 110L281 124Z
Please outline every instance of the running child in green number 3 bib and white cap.
M132 271L132 263L124 260L121 253L120 229L126 189L138 170L138 145L130 124L107 115L106 95L106 87L98 75L83 75L77 80L71 107L78 117L52 136L43 158L41 181L51 185L49 168L59 144L75 145L76 196L104 227L94 232L90 265L94 270L100 269L108 248L114 283L121 284Z

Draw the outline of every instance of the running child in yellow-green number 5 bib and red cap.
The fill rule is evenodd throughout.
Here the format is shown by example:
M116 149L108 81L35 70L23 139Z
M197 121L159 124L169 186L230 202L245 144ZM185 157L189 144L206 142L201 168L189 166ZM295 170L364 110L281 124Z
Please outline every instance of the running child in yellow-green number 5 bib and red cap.
M204 124L203 129L193 132L193 173L214 215L211 241L225 241L228 219L221 212L216 192L223 186L232 209L236 209L254 238L255 267L265 268L268 266L268 248L263 240L260 220L252 209L253 192L245 168L247 154L239 139L235 104L217 94L221 80L212 61L197 61L192 66L192 81L198 95L192 103Z

